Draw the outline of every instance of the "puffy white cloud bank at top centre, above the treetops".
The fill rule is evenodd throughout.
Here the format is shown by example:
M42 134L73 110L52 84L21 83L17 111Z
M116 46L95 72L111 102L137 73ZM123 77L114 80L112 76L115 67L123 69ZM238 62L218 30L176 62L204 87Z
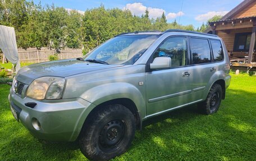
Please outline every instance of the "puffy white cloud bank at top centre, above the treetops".
M135 14L137 16L145 14L145 11L149 11L149 17L156 19L157 17L161 17L163 12L166 14L166 11L164 11L162 8L152 8L152 7L146 7L142 3L127 3L126 6L123 8L123 10L130 10L132 14ZM181 12L181 16L184 15L183 12ZM166 19L174 19L177 16L180 16L180 12L177 13L167 13Z

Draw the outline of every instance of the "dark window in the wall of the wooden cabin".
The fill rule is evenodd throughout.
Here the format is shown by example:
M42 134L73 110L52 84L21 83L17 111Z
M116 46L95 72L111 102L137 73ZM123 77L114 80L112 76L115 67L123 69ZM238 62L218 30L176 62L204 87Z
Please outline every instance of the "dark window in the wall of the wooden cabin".
M249 52L252 33L238 33L235 36L234 52Z

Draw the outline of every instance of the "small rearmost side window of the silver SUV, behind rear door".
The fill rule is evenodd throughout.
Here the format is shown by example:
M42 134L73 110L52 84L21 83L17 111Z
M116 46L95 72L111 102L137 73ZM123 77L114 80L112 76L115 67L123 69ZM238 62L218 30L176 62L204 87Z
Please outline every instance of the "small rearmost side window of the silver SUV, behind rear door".
M210 40L213 51L213 60L214 62L223 60L223 48L220 40Z

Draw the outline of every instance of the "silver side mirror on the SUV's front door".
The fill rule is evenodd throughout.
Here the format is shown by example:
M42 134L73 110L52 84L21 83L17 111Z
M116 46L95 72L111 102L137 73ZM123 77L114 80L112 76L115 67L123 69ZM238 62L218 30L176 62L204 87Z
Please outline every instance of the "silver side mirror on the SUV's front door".
M150 69L161 69L161 68L170 68L171 67L171 58L170 57L157 57L154 58L153 63L150 63Z

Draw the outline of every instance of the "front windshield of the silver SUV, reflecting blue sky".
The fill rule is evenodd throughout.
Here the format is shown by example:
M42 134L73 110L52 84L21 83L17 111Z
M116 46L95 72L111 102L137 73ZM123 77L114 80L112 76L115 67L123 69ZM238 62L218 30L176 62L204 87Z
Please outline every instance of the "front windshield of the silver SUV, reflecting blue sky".
M159 35L117 36L94 49L85 61L106 64L134 64Z

